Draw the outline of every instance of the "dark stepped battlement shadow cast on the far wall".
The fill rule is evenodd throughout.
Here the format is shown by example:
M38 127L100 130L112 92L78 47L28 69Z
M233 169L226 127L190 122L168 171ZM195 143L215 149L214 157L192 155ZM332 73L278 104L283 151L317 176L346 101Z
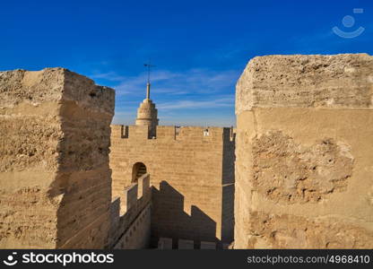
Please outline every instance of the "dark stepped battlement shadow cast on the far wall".
M216 242L221 248L216 222L195 205L191 206L190 215L184 212L184 195L167 181L160 182L160 190L152 187L152 195L152 218L157 218L152 222L152 247L157 247L158 239L163 237L173 239L173 248L178 247L178 239L194 240L195 249L200 248L201 241Z

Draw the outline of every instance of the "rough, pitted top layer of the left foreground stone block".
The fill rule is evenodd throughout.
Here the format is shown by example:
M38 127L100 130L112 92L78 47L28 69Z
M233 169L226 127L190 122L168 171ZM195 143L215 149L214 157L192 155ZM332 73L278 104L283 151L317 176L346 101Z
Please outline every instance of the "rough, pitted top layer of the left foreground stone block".
M91 79L60 67L34 72L1 72L0 94L0 108L14 108L21 103L38 106L45 102L71 100L80 108L105 112L108 116L114 111L115 97L111 89L95 85Z

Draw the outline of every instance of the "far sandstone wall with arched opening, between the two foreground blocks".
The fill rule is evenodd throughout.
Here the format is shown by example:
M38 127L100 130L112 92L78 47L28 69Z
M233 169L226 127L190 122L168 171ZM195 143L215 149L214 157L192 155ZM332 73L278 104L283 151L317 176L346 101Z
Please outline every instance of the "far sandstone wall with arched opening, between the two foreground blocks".
M221 242L233 236L234 140L230 128L111 126L113 196L132 184L134 164L151 175L152 237Z

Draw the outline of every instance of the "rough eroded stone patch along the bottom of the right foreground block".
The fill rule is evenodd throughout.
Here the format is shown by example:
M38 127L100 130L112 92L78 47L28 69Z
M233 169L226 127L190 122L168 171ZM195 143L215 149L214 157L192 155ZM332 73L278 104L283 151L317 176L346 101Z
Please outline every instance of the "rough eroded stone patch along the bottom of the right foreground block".
M250 214L250 248L373 248L373 231L332 218Z

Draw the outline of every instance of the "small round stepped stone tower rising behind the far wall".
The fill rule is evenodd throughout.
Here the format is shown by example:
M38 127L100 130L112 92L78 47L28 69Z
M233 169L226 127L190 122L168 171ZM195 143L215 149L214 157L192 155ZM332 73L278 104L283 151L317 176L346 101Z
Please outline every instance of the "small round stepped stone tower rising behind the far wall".
M136 126L149 126L149 136L155 136L156 126L158 126L158 111L155 104L150 99L151 83L146 84L146 99L137 108Z

